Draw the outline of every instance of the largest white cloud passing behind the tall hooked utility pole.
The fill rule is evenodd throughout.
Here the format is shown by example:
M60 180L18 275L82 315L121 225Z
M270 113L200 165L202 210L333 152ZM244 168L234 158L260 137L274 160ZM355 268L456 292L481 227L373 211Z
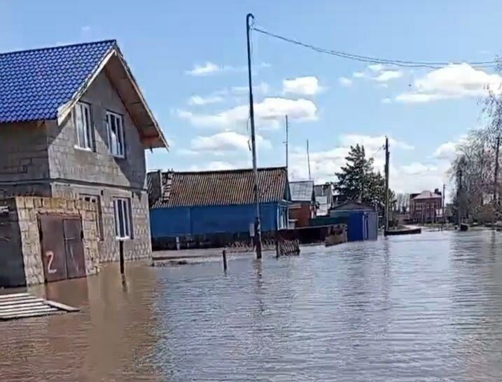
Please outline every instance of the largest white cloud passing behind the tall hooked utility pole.
M316 104L302 98L290 100L281 97L267 97L262 102L255 103L254 109L255 121L259 126L278 127L279 120L282 121L286 115L290 120L295 121L315 121L317 119ZM195 126L233 129L246 125L249 107L247 104L242 104L216 114L195 114L186 110L178 110L177 113L179 118L186 119Z

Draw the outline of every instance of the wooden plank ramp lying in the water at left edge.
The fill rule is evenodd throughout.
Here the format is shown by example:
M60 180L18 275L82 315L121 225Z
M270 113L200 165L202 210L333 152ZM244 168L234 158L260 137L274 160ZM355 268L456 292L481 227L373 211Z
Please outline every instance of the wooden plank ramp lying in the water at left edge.
M41 299L29 293L0 294L0 320L77 311L77 308L64 305L64 303Z

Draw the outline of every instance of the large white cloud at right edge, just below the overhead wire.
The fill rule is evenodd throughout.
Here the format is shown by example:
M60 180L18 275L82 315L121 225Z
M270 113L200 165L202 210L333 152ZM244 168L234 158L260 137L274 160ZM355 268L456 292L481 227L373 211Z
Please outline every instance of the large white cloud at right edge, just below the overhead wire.
M449 64L429 71L414 81L414 90L396 96L396 101L417 103L460 97L480 97L487 94L487 87L499 91L502 77L475 69L469 64Z

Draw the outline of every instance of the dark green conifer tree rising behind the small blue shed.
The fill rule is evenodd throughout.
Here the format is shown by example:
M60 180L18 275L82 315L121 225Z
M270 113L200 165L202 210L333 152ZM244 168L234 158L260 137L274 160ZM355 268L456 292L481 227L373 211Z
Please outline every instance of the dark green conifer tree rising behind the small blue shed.
M373 158L366 158L363 145L351 146L345 165L335 175L335 189L350 200L365 203L385 204L385 178L373 169ZM389 200L393 200L389 190Z

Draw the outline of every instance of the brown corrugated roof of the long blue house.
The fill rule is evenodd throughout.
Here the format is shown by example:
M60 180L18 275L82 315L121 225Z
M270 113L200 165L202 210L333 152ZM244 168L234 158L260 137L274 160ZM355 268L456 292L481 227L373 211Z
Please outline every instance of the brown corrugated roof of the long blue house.
M148 192L154 193L155 172L148 174ZM286 168L258 169L260 203L284 200L288 176ZM151 208L197 205L237 205L254 203L253 170L204 172L162 172L160 198Z

